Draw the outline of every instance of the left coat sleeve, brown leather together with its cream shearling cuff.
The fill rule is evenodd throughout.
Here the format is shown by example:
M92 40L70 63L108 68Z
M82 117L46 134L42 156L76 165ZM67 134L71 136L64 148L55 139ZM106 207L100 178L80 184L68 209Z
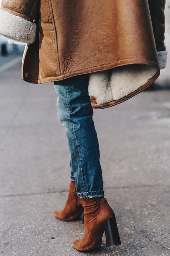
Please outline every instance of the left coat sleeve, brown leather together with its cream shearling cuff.
M34 43L39 0L2 0L0 34L23 43Z

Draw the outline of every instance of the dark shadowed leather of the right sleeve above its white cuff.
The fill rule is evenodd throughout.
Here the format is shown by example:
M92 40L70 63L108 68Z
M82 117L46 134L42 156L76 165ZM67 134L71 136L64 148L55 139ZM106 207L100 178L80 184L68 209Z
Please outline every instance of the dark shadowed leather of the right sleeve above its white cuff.
M164 51L165 0L148 0L157 51Z

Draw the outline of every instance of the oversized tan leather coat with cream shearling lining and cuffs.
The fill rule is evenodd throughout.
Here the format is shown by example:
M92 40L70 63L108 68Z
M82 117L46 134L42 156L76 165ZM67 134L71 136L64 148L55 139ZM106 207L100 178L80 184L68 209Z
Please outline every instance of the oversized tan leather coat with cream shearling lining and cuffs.
M22 78L90 73L93 108L119 104L165 68L165 0L2 0L0 33L27 43Z

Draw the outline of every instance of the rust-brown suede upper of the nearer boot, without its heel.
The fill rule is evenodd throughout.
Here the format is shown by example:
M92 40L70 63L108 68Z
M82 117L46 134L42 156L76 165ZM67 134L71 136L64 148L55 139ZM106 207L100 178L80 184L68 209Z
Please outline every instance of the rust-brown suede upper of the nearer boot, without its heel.
M72 246L79 251L92 250L102 243L105 223L115 216L104 197L83 199L84 238L75 240Z

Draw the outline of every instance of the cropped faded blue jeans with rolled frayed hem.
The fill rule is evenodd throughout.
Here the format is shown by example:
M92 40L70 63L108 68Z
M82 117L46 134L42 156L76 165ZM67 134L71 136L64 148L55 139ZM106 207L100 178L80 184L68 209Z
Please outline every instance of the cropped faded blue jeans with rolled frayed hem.
M80 198L104 196L99 143L88 95L89 74L54 82L57 115L66 127L71 153L71 180Z

